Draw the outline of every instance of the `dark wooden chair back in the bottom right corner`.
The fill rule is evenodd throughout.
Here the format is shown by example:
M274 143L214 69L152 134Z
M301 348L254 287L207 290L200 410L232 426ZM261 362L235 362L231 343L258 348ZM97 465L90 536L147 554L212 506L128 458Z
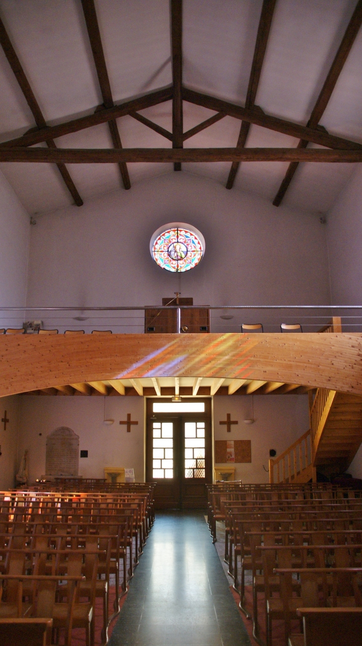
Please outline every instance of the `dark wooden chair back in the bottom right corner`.
M300 608L303 635L289 638L289 646L362 646L361 608Z

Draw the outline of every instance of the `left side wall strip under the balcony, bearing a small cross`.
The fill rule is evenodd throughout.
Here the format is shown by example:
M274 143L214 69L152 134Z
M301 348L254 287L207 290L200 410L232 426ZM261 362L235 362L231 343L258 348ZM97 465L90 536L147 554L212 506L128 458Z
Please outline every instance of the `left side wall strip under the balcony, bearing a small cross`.
M20 464L17 459L19 399L18 395L1 397L0 399L0 419L4 417L6 410L6 417L9 420L6 424L6 430L4 430L3 422L0 422L0 490L15 486L15 475Z

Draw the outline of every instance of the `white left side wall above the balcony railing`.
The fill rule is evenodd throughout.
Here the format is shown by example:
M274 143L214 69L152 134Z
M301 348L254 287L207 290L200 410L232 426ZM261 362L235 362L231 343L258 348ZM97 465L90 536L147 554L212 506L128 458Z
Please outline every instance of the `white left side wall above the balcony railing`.
M26 300L29 216L0 171L0 306L21 307ZM23 313L0 312L0 328L21 327Z

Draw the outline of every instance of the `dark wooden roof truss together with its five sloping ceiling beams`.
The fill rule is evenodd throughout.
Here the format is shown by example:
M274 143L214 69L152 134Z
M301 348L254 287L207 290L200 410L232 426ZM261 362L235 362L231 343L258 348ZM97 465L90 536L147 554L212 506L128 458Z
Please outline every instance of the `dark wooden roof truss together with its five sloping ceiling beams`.
M97 107L93 114L71 119L58 125L46 125L45 118L26 79L25 72L17 58L14 47L10 42L3 23L0 21L0 44L3 47L6 58L17 78L26 101L32 110L36 123L36 127L28 130L23 136L0 144L0 161L55 163L77 205L80 206L83 202L66 169L66 163L117 163L121 171L123 185L125 189L129 189L130 178L126 164L130 162L174 163L174 170L180 171L181 163L230 161L232 166L226 187L231 189L241 161L288 161L290 165L287 174L273 202L274 205L279 205L296 172L297 165L301 161L334 163L354 163L362 161L362 145L360 143L331 135L323 126L319 125L319 120L336 86L339 74L361 26L362 0L358 0L356 4L354 14L350 19L341 45L339 46L336 57L334 58L306 126L265 114L255 103L276 0L263 0L245 107L208 96L201 92L196 92L195 90L190 90L183 86L182 0L171 0L170 3L172 85L115 105L106 68L94 0L81 0L81 2L99 87L103 98L103 105ZM139 114L139 110L144 110L165 101L172 101L172 132L168 132L168 130ZM216 114L199 123L196 127L183 132L183 101L205 107L206 109L214 111ZM132 116L132 118L156 131L166 140L171 141L172 149L123 149L116 120L126 115ZM232 118L241 120L241 128L236 147L183 149L183 142L185 140L201 132L201 130L210 127L210 125L223 119L225 116L231 116ZM114 146L113 149L58 149L56 147L55 139L101 123L108 123ZM297 138L299 139L299 144L296 149L245 148L250 124ZM42 142L46 143L48 149L31 148L35 144ZM323 146L324 149L307 149L309 142Z

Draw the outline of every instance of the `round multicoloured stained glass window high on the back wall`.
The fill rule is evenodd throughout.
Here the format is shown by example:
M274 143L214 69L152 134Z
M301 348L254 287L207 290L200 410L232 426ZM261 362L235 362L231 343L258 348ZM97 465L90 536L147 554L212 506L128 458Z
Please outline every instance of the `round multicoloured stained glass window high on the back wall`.
M167 271L188 271L199 264L205 253L205 240L195 227L170 222L157 229L150 241L152 258Z

